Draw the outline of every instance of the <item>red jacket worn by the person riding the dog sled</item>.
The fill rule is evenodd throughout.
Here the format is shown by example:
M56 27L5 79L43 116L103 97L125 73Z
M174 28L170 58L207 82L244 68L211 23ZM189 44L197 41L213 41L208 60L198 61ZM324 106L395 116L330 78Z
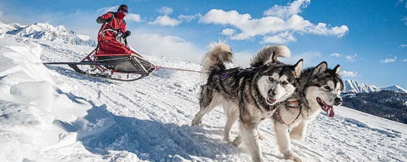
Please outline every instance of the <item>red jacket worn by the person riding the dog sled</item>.
M121 13L119 13L121 14ZM113 21L110 22L109 24L112 25L112 27L114 27L114 29L122 29L121 33L124 34L124 32L126 32L126 21L124 21L124 16L123 17L119 17L118 13L114 13L114 12L108 12L105 15L101 15L98 18L102 18L102 19L107 19L109 17L113 18ZM121 19L120 19L121 18ZM108 25L102 24L102 27L100 27L99 32L98 32L98 41L100 40L116 40L116 34L114 34L113 31L107 31L105 34L105 37L102 37L102 33L101 31L103 29L109 29L110 27Z

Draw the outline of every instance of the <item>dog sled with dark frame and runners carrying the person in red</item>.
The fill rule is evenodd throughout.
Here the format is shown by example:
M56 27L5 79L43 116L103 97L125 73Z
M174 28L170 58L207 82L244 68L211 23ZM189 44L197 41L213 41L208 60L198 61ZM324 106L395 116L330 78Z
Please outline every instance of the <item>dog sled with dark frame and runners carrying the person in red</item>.
M105 23L105 27L106 25L109 24ZM110 28L105 27L101 31L102 34L113 31L116 34L116 40L128 47L126 37L120 32L121 29L114 29L112 26ZM100 50L100 43L95 50L79 62L49 62L44 64L65 64L84 75L128 82L145 78L159 69L159 66L147 61L135 50L131 49L130 52L123 54L107 53Z

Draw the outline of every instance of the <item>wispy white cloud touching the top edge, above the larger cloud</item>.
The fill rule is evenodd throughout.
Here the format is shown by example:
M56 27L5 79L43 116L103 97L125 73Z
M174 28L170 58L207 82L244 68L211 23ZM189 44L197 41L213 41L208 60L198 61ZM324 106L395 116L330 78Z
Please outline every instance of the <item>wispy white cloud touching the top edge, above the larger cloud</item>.
M289 4L289 6L274 5L272 8L265 10L263 15L287 19L293 15L298 15L298 13L301 13L302 8L307 8L310 2L311 0L298 0L293 1L293 3Z

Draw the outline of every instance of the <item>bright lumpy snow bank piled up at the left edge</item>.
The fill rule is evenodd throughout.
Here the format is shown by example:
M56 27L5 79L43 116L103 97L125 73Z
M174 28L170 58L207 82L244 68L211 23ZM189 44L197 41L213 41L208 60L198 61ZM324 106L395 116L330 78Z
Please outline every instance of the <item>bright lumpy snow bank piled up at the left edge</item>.
M0 161L54 161L76 152L67 145L86 150L58 123L71 124L92 105L58 89L41 52L37 43L0 39Z

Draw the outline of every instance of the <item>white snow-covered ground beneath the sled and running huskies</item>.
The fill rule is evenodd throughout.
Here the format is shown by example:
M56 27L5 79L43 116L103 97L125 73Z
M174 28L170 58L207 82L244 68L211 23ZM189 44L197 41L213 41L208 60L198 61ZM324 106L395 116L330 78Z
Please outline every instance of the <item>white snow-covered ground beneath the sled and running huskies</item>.
M79 61L93 47L1 34L0 161L250 161L222 140L222 108L199 126L200 73L161 68L136 82L74 73L48 61ZM159 66L191 62L145 56ZM292 142L303 161L407 161L407 125L342 106L312 121ZM232 135L239 133L238 124ZM272 122L260 126L266 161L283 159Z

